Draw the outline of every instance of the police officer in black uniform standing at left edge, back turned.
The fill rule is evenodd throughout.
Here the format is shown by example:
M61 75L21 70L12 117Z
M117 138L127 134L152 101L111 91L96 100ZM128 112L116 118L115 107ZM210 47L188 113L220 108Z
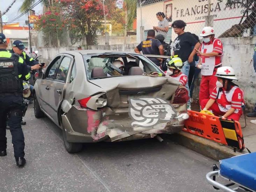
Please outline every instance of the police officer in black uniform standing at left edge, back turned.
M0 156L6 156L6 122L9 119L10 133L16 164L22 167L24 158L24 135L21 129L22 119L22 80L28 80L30 73L24 60L17 54L6 50L8 43L0 33Z

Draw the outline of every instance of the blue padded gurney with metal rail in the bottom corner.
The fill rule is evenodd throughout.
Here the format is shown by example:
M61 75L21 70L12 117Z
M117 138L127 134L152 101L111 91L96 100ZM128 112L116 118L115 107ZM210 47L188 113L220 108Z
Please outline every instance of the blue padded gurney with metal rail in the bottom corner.
M220 169L215 165L214 171L207 173L208 183L214 189L227 192L253 191L256 192L256 152L223 159L220 161ZM232 183L223 185L215 181L215 176L221 176ZM213 177L213 178L212 178ZM238 187L229 187L237 184Z

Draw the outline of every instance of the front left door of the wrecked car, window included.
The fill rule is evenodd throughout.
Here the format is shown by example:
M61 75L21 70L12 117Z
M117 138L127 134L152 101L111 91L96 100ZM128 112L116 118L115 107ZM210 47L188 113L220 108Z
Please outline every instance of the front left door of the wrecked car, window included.
M52 111L50 104L50 88L51 84L54 81L55 74L57 72L58 65L61 61L62 55L56 56L52 62L49 64L45 71L45 78L40 79L40 83L38 83L38 91L37 94L38 101L40 102L41 108L43 111L49 116L49 113Z

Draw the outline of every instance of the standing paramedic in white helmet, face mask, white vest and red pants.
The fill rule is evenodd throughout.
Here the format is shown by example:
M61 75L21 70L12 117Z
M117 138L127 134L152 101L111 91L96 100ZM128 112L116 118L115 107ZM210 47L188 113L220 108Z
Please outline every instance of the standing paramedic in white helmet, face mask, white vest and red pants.
M212 27L204 27L200 36L203 37L203 43L199 50L197 50L200 56L202 65L201 74L202 80L199 91L199 104L203 99L208 99L212 93L217 78L214 76L217 68L221 67L221 59L223 55L222 43L219 39L214 38L215 31Z

